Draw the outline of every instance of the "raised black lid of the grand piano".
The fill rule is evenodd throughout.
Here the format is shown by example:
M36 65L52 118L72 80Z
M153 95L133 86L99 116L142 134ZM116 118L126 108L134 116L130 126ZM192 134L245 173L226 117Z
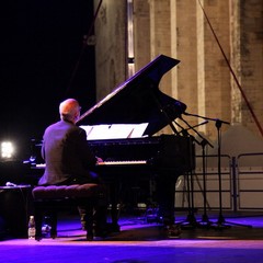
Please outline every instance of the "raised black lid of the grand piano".
M83 113L78 125L148 123L144 136L156 134L186 110L185 104L159 90L162 76L179 62L158 56Z

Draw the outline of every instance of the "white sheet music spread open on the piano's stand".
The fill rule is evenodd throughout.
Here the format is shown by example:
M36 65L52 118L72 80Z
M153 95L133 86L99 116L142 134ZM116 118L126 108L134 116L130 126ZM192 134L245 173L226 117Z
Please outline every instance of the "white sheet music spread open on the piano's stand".
M112 124L112 125L81 125L87 133L88 140L126 139L142 137L148 123L142 124Z

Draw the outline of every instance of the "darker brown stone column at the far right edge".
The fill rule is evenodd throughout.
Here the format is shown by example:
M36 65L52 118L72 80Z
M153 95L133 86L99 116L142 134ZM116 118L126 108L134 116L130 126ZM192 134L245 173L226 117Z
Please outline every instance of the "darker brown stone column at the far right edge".
M236 81L232 80L232 122L242 123L260 135L256 119L263 124L263 2L230 1L231 3L231 61L248 100L244 101Z

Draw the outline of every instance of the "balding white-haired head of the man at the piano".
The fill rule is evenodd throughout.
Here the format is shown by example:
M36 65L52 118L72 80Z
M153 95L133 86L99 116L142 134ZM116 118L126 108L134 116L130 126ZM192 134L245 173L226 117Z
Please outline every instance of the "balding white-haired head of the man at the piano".
M80 116L80 105L75 99L68 99L59 105L60 118L76 123Z

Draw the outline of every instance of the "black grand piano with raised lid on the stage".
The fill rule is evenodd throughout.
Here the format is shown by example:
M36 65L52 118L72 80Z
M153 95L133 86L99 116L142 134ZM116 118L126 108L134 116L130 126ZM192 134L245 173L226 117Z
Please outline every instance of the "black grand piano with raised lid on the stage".
M175 182L179 175L194 169L193 139L182 130L178 132L174 124L186 105L159 90L162 76L179 62L164 55L158 56L84 112L77 123L81 127L106 125L108 128L118 124L146 124L141 137L133 136L132 130L126 138L88 138L95 155L104 160L98 165L98 171L112 182L114 224L117 224L119 185L127 176L146 176L150 180L165 176ZM168 125L171 134L156 135Z

